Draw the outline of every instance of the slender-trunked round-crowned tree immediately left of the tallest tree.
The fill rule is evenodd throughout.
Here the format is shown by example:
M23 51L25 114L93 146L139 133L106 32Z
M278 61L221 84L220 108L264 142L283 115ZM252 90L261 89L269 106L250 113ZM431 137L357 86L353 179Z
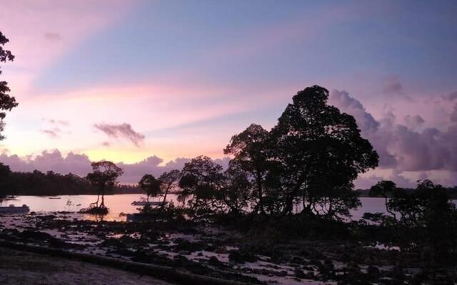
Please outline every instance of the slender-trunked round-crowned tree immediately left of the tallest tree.
M233 135L224 149L226 155L233 155L236 167L248 172L256 185L258 204L255 210L265 214L263 205L263 180L268 172L268 131L261 125L251 124L246 130ZM238 173L239 174L239 173ZM243 185L246 186L246 185Z

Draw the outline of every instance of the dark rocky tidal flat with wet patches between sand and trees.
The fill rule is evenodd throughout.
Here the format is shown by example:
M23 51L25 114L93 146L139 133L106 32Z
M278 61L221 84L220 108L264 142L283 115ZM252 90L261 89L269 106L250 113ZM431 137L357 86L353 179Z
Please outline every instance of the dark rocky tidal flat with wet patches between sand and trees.
M457 280L455 268L428 268L379 242L281 239L186 219L106 222L71 212L0 217L0 239L171 266L248 284L429 284Z

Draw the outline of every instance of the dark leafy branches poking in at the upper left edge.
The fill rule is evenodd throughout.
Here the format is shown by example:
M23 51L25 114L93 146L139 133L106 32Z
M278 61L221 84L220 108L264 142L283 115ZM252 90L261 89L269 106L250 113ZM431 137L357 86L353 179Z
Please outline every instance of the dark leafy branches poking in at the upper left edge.
M8 43L9 39L6 38L6 36L3 35L0 31L0 62L6 62L6 61L13 61L14 60L14 55L11 53L11 51L7 51L3 48L5 43ZM0 69L0 75L1 75L1 69ZM6 117L6 113L4 111L8 110L10 111L12 108L16 107L18 103L16 103L16 99L14 97L11 97L9 93L10 89L8 87L8 83L6 81L0 81L0 140L4 139L4 136L1 135L1 133L4 130L4 118Z

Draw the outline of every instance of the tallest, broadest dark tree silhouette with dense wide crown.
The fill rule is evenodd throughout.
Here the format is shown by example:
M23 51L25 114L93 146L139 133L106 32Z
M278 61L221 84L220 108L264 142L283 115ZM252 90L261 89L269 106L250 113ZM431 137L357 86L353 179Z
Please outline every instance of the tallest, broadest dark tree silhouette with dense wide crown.
M325 202L327 213L333 205L353 207L348 192L361 172L378 165L378 154L361 137L353 116L327 104L328 90L305 88L293 96L271 130L275 159L281 162L283 213L290 214L293 201L301 195L308 211Z

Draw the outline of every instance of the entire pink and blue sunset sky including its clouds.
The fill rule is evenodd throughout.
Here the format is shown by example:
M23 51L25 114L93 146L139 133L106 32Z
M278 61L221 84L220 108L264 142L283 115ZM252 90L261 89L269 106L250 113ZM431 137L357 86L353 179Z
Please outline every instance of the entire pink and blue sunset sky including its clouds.
M223 165L232 135L272 128L320 85L354 115L380 166L356 187L457 185L456 1L6 0L1 63L19 107L0 162L122 182L197 155Z

